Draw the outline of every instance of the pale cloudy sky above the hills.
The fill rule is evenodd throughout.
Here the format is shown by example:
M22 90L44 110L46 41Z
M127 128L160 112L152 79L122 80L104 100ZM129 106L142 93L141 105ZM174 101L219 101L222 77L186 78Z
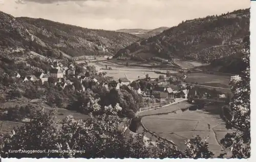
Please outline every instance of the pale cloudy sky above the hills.
M250 0L0 0L0 11L90 29L155 29L250 7Z

